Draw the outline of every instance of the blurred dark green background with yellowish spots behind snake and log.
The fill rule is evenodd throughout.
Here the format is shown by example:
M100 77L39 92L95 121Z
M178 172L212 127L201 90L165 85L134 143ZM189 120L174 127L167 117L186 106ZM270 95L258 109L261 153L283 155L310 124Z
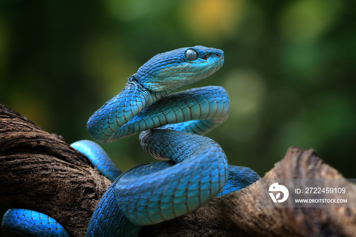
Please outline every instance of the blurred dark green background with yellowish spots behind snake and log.
M0 2L0 103L64 136L157 53L204 45L220 71L229 119L207 136L229 163L261 176L288 147L313 148L356 178L356 1L104 0ZM103 145L123 170L152 162L138 135ZM1 213L0 213L1 214Z

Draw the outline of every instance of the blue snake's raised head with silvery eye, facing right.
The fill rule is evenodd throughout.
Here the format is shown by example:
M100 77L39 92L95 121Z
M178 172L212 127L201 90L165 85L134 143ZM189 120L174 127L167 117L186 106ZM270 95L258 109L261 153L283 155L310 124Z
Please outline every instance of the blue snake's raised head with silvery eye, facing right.
M224 52L216 48L194 46L157 54L133 75L152 92L175 91L218 71Z

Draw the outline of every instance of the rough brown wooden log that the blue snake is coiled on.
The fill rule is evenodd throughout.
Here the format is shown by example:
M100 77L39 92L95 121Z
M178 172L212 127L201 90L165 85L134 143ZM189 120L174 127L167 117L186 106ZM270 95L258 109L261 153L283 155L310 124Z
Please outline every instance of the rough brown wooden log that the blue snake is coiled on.
M343 179L313 150L290 147L264 176ZM14 208L48 214L72 236L83 236L105 177L60 136L41 130L16 111L0 105L0 200ZM258 185L214 198L193 213L153 226L140 236L354 236L354 208L261 208ZM356 186L347 183L347 194Z

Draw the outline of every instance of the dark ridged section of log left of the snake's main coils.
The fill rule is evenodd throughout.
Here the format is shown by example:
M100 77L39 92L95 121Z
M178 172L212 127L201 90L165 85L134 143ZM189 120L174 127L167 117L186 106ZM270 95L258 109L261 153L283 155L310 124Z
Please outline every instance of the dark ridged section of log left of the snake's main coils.
M84 236L110 181L61 137L0 105L0 200L54 218Z

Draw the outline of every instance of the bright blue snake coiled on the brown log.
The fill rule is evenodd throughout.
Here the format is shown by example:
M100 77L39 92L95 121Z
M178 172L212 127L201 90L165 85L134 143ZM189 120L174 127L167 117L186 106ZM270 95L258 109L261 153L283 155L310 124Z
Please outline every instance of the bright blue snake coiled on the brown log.
M87 130L95 140L111 142L140 133L143 149L160 161L122 172L97 143L71 144L112 182L96 206L86 236L137 236L143 225L192 212L215 196L259 179L250 168L228 165L221 147L202 136L228 117L224 88L170 94L212 75L223 62L222 50L203 46L157 54L90 117ZM2 228L31 236L69 236L51 217L25 209L7 211Z

